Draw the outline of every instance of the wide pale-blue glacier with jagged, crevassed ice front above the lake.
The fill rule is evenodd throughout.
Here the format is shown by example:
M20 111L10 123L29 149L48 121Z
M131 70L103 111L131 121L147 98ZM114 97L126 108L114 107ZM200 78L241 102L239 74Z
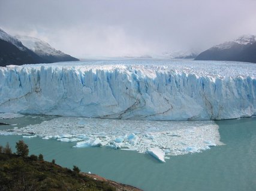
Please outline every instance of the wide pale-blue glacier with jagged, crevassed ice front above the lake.
M158 64L1 67L0 112L150 120L256 115L254 64Z

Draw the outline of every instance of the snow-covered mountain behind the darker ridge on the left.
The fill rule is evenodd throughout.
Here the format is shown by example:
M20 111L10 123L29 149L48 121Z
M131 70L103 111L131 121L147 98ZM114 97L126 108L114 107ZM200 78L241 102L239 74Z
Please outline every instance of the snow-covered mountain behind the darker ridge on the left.
M77 58L71 57L68 54L62 53L62 51L56 50L51 47L47 42L42 41L38 38L33 38L31 36L16 36L25 47L28 47L38 56L46 59L50 62L56 61L78 61Z

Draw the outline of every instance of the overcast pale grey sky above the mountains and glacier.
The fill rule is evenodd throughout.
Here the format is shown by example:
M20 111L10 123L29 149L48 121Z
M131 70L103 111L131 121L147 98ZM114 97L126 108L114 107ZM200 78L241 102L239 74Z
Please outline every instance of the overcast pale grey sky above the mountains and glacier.
M256 0L0 0L0 28L79 58L205 50L256 34Z

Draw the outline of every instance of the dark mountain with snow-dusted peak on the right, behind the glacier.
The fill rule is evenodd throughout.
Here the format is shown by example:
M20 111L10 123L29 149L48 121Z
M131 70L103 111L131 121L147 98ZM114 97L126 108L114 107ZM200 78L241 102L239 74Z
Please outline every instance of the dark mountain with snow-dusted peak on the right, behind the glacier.
M242 35L233 41L215 45L200 53L195 60L228 60L256 63L256 36Z

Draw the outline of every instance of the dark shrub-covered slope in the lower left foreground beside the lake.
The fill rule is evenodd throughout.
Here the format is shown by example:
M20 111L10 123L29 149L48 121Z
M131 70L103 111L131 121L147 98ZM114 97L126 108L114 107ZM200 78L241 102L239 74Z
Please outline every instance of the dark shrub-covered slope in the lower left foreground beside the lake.
M95 174L79 172L79 168L63 168L35 155L20 156L1 153L0 190L109 190L140 191L136 187L107 180ZM43 155L42 155L43 156Z

